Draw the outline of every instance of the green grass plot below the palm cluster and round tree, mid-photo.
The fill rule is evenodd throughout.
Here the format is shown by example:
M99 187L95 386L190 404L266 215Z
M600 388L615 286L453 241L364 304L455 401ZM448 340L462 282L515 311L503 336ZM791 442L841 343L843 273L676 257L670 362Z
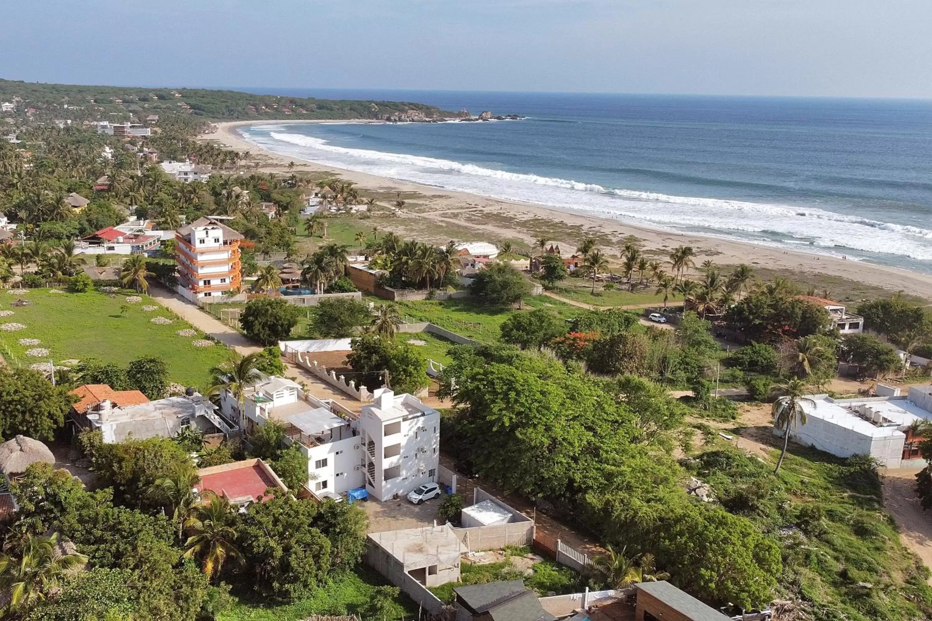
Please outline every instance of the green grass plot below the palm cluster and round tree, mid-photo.
M580 310L545 295L529 298L525 301L524 307L525 309L550 308L556 315L565 318L575 316ZM441 328L483 343L498 342L502 322L512 313L522 312L511 308L488 308L482 304L476 304L469 298L442 302L431 300L400 302L398 310L408 321L430 321Z

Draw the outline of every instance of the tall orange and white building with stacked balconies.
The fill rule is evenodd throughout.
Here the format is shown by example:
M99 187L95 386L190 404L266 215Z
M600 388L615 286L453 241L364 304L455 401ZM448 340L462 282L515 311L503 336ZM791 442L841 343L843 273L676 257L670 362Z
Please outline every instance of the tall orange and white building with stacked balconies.
M242 238L211 217L200 218L175 231L178 292L195 304L225 292L239 292Z

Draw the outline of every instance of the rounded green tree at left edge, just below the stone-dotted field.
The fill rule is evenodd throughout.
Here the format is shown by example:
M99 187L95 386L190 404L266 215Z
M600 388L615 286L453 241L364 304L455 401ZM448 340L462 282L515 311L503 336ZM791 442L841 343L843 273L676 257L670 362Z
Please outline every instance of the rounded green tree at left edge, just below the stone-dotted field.
M39 371L0 367L0 435L52 439L75 396Z

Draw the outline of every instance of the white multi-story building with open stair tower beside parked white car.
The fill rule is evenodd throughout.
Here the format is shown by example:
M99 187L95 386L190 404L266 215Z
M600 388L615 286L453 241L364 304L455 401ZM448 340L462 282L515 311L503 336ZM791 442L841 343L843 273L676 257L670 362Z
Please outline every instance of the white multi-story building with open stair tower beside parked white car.
M269 420L285 425L286 442L308 458L308 489L319 498L364 487L390 500L437 481L440 413L411 395L377 390L376 402L357 416L291 380L267 377L246 390L242 412L229 393L221 411L239 419L247 436Z

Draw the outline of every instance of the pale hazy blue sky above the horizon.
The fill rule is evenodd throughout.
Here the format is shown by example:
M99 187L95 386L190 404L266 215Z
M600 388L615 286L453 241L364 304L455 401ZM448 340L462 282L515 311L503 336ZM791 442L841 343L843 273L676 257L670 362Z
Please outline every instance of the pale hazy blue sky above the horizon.
M28 0L0 77L932 98L932 0Z

